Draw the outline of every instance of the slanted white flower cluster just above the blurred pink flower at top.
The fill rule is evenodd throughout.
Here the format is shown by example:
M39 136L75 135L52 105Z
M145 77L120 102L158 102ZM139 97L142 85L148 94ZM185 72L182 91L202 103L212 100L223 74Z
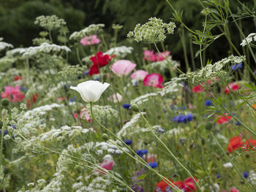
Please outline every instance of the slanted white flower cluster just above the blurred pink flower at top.
M81 31L75 31L74 33L72 33L69 39L80 40L85 36L99 33L104 27L104 24L91 24L90 26L83 28Z

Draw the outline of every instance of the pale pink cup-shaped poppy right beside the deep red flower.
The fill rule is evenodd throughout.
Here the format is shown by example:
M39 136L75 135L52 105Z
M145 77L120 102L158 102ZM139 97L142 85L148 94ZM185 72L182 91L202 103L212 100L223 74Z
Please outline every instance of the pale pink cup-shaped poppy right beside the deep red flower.
M135 69L135 66L136 64L132 64L132 62L129 60L118 60L112 66L110 66L110 69L118 77L123 77L132 72L132 70Z

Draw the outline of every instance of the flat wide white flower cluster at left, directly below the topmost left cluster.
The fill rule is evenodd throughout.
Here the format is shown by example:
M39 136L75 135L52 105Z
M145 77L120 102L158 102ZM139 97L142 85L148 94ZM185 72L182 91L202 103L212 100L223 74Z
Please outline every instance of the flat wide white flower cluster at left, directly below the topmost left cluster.
M49 44L48 42L44 42L40 46L27 48L22 56L23 56L23 58L24 57L32 57L34 55L37 55L37 53L50 53L52 51L57 53L57 52L61 52L62 50L66 51L66 52L71 51L69 49L69 47L55 45L55 44Z

